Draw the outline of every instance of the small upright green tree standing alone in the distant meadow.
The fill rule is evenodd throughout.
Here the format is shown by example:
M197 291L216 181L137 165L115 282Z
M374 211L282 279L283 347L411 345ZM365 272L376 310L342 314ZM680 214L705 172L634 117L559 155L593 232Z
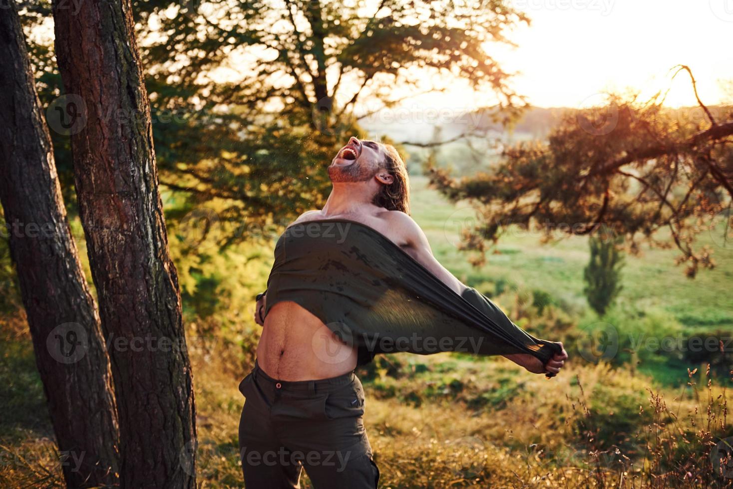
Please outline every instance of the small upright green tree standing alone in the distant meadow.
M590 258L583 270L583 279L586 281L583 293L599 316L605 314L622 289L621 269L624 260L619 250L622 241L622 237L611 238L608 234L594 235L588 239Z

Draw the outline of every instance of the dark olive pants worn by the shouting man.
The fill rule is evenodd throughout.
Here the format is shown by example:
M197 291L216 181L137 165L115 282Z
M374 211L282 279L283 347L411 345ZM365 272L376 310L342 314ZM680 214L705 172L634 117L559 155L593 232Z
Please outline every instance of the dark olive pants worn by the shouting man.
M353 372L278 381L257 362L239 386L246 397L239 448L247 489L376 488L379 469L364 430L364 389Z

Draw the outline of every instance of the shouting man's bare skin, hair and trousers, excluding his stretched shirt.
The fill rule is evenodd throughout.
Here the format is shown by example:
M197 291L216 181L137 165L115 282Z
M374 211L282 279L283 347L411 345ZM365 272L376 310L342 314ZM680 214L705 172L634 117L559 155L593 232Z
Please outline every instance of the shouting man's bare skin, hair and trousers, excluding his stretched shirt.
M333 190L323 209L293 225L349 220L369 226L405 250L457 294L466 286L432 255L409 215L405 163L393 146L350 138L328 167ZM320 488L375 488L379 469L364 431L364 390L354 376L358 351L301 305L256 305L264 326L257 361L240 384L246 403L240 453L247 488L296 488L305 467ZM263 317L266 316L266 317ZM507 354L534 373L558 373L564 349L544 365L530 354Z

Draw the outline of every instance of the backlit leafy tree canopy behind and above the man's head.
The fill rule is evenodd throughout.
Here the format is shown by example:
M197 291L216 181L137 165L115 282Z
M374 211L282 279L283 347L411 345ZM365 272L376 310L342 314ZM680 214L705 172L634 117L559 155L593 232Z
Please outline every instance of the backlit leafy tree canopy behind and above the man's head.
M283 224L323 206L326 165L346 138L364 135L358 119L403 93L443 88L432 81L462 78L493 92L501 109L493 119L511 119L524 105L487 52L488 42L507 42L505 31L528 22L504 0L132 5L161 184L190 208L221 209L230 223ZM27 31L49 7L43 0L23 12ZM62 93L53 46L49 37L31 39L48 104ZM73 210L68 138L53 136Z

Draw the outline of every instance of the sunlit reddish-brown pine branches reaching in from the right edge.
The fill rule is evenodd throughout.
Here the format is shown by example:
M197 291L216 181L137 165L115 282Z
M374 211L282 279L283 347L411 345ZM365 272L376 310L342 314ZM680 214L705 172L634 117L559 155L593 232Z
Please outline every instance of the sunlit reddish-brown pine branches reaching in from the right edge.
M433 187L479 211L465 239L476 263L509 226L556 238L587 236L605 223L630 253L677 247L690 278L714 268L713 249L698 236L733 198L733 111L702 102L669 109L663 93L611 94L603 106L568 110L542 141L504 147L498 163L475 175L427 165ZM691 116L696 110L704 120Z

